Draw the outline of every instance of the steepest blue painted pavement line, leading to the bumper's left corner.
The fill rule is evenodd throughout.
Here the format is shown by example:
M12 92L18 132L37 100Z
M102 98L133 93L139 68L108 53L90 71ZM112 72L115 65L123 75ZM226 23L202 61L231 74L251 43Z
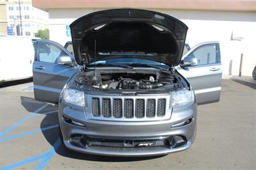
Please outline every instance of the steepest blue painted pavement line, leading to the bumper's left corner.
M50 162L54 153L61 146L60 138L54 143L51 150L47 153L47 155L43 158L43 160L35 167L36 170L44 169L44 167Z

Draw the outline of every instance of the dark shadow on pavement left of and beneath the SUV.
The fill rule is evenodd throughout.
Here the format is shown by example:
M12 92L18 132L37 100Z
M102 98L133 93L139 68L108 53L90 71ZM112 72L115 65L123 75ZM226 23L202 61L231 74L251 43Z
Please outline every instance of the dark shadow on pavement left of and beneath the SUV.
M29 112L33 112L42 105L45 105L43 102L38 102L33 98L29 97L20 97L21 104L25 109ZM58 112L56 111L56 105L48 105L45 110L38 112L37 114L45 114L44 119L41 121L40 128L42 130L42 134L44 135L45 139L52 147L55 147L56 141L60 138L59 136L59 128L54 127L54 125L58 125ZM56 111L56 112L52 112ZM54 127L54 128L48 128ZM47 130L45 130L45 128ZM154 157L107 157L107 156L100 156L100 155L90 155L86 153L79 153L76 151L68 150L63 144L60 147L54 148L55 152L58 155L68 158L76 158L79 160L90 160L90 161L98 161L98 162L132 162L132 161L141 161L141 160L149 160L154 158L164 157L161 156L154 156Z

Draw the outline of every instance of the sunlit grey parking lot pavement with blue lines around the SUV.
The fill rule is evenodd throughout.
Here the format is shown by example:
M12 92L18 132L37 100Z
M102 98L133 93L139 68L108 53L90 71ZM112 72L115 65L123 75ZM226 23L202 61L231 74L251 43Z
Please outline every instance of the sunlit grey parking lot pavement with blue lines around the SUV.
M0 169L256 169L255 81L222 81L220 102L198 106L188 150L139 158L67 150L58 135L58 105L34 100L32 85L0 88Z

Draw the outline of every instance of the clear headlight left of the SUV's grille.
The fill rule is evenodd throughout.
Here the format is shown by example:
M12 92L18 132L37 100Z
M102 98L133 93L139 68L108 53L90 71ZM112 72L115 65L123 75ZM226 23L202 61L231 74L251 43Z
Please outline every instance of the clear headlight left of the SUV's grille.
M84 92L77 89L63 89L63 99L70 104L84 107Z

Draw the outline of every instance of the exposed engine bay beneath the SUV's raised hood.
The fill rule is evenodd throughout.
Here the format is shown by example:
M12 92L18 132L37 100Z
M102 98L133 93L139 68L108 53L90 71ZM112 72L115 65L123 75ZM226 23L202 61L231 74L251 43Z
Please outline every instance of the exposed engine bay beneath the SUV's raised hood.
M182 79L172 72L142 72L142 71L102 71L93 70L77 75L75 82L86 84L94 89L111 90L150 90L161 89L166 85L179 87ZM184 86L183 86L184 87Z

